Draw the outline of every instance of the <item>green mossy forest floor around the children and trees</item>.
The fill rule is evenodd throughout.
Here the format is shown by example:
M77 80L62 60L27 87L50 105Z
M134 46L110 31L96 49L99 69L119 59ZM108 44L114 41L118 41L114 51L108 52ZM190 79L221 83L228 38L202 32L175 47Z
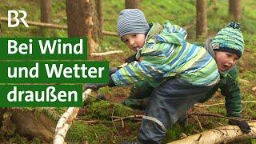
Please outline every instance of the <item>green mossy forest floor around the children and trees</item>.
M11 9L22 9L28 11L28 19L40 21L39 0L0 0L0 16L6 17L6 11ZM53 2L53 22L66 25L66 12L64 0L52 0ZM208 6L214 5L212 1ZM104 30L115 31L118 12L124 7L124 3L117 0L103 1ZM217 1L215 9L208 11L209 34L203 38L195 38L195 1L168 1L159 2L142 1L142 10L146 14L149 22L164 22L169 19L171 22L180 26L191 25L187 29L189 37L188 42L203 43L206 37L212 37L226 23L230 22L228 17L228 1ZM254 0L242 1L242 32L246 42L246 50L238 62L239 77L238 82L241 86L242 101L256 101L256 2ZM33 12L33 14L32 14ZM53 34L42 34L37 26L31 26L30 30L19 26L10 30L6 23L2 23L3 37L67 37L65 30L54 30ZM131 54L130 50L117 37L104 36L98 52L108 50L123 50L121 54L114 54L102 57L90 57L94 61L109 61L110 66L120 66L124 60ZM126 117L130 115L141 115L142 110L132 110L122 106L122 102L129 96L131 86L102 88L98 92L93 92L85 102L85 106L79 111L78 118L74 121L66 135L66 142L70 143L118 143L123 140L136 140L138 129L141 125L140 118L126 119L114 122L112 116ZM98 94L105 94L106 101L97 99ZM218 92L214 98L206 104L225 102L225 98ZM242 103L243 118L256 119L256 102ZM224 105L198 107L193 110L199 113L222 114L226 115ZM198 116L203 130L209 130L218 126L226 126L228 122L225 118L215 118L209 116ZM88 121L94 121L89 123ZM164 142L171 142L186 135L197 134L201 132L198 121L195 116L188 118L188 124L185 127L175 124L170 130L167 130ZM0 142L4 143L44 143L40 138L26 138L18 133L6 134L0 130ZM239 142L240 143L240 142ZM255 139L249 139L242 143L256 143Z

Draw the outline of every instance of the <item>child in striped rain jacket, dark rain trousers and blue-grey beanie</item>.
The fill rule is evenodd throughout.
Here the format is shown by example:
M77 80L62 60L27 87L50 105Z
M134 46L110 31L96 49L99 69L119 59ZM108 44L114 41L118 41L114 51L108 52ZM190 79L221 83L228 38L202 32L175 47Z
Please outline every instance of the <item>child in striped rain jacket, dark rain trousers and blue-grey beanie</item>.
M168 21L148 24L141 10L122 10L117 27L122 42L137 52L138 61L111 74L109 86L154 85L138 140L161 143L166 129L218 83L217 64L203 47L186 42L186 30Z

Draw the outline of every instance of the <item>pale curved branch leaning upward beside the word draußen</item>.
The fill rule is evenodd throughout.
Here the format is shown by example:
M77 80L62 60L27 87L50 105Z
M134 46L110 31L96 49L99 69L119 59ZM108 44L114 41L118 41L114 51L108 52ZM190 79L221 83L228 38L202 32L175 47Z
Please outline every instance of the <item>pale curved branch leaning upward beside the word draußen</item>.
M82 102L88 98L88 95L91 93L91 89L88 89L83 92L82 94ZM62 117L59 118L57 126L55 128L55 134L54 134L54 144L62 144L65 142L65 137L67 130L70 129L70 126L78 115L79 107L69 107L64 114L62 114Z

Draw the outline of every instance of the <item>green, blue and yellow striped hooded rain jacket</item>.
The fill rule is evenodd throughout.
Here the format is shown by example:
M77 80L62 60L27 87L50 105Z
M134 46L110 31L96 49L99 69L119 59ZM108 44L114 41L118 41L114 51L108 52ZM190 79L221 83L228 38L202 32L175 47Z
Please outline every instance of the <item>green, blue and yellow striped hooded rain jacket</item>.
M134 61L111 75L116 86L148 81L159 84L166 78L181 78L195 86L214 86L219 81L214 58L201 46L186 42L186 30L165 22L153 23L145 45Z

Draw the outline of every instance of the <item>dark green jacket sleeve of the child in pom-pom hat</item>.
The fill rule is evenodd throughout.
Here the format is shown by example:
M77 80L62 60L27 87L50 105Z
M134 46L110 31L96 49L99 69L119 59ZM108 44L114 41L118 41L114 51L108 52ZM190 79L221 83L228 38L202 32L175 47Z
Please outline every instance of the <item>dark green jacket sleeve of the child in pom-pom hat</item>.
M241 93L237 81L238 68L235 66L226 76L226 82L221 86L221 93L225 96L225 106L228 117L240 117L242 112Z

